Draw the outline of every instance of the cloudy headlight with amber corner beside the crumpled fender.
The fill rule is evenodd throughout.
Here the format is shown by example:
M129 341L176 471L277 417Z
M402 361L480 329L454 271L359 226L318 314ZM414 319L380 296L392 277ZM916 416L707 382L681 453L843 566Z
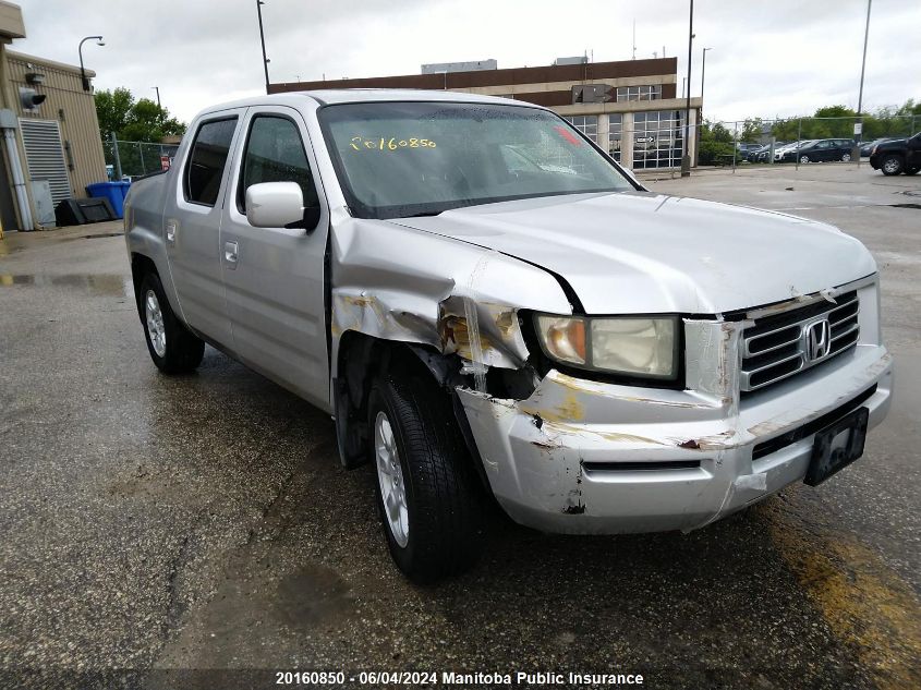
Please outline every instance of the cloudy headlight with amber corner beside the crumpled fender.
M544 353L561 364L640 378L678 377L677 316L538 314L535 325Z

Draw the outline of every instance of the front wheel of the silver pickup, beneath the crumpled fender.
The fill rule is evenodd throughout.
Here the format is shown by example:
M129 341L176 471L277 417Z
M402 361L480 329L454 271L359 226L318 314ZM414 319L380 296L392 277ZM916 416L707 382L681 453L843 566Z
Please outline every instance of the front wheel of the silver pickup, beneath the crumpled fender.
M450 401L432 382L385 374L371 391L368 429L378 513L397 567L420 584L469 569L483 547L484 501Z

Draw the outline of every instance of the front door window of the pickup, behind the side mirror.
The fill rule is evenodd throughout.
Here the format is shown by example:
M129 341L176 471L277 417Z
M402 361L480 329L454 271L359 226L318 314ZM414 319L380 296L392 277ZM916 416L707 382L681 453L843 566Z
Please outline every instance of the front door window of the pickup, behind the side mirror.
M253 118L237 192L240 213L246 210L246 189L260 182L296 182L304 194L304 206L319 206L304 142L298 126L288 118Z

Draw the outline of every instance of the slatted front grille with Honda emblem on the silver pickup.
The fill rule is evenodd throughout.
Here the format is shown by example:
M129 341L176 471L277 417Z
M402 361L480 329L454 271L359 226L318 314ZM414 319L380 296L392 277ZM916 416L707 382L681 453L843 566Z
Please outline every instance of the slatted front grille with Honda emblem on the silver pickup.
M857 292L847 292L834 304L759 318L742 332L741 389L764 388L849 350L860 337L859 312Z

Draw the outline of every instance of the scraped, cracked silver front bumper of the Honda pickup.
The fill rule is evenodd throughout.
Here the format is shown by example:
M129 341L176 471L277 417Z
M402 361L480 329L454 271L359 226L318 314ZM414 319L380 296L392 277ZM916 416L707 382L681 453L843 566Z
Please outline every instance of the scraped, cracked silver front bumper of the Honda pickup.
M702 342L720 338L705 334ZM686 331L694 324L686 322ZM720 361L735 356L722 324ZM814 432L758 459L755 446L865 394L870 426L888 412L892 356L852 351L740 397L731 367L694 374L695 390L602 384L550 372L526 400L458 389L486 475L521 524L560 533L693 530L801 481ZM719 388L723 387L720 395ZM735 395L725 395L735 389ZM831 423L831 422L829 422Z

